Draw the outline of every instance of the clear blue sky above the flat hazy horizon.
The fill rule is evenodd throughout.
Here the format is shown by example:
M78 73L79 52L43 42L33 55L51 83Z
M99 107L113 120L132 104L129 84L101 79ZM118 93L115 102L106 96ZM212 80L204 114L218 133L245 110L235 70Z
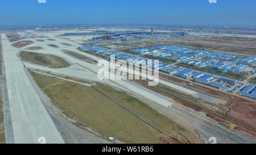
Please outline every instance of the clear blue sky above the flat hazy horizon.
M0 0L0 24L256 25L256 0Z

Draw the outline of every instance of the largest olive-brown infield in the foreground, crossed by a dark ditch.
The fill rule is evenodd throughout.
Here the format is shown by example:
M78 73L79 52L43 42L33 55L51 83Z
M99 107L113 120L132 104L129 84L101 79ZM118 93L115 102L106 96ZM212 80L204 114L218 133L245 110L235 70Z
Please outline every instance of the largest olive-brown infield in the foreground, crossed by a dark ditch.
M77 125L92 128L105 137L115 136L126 143L164 143L160 139L160 136L163 137L162 133L109 98L113 98L166 133L180 132L185 136L191 135L166 116L148 107L147 104L109 86L100 84L93 87L81 86L53 77L42 77L41 74L34 72L31 74L64 114L75 118L78 121ZM167 139L171 140L170 137Z

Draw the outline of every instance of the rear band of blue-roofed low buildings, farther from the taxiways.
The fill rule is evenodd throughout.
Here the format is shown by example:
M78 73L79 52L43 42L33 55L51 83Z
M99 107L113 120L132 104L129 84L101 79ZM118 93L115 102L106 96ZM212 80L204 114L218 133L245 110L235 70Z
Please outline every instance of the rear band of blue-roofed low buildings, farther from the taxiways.
M237 55L221 52L209 52L201 49L189 49L187 47L166 45L151 48L131 49L131 52L140 55L150 55L174 62L183 62L198 68L212 68L217 72L242 72L248 66L255 65L256 57L238 57Z

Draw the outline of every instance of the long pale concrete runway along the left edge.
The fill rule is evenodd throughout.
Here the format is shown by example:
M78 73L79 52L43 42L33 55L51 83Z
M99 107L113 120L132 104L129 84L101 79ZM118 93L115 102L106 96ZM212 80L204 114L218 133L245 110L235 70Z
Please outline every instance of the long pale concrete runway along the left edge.
M10 106L10 115L5 112L5 121L11 119L12 123L12 128L6 128L6 131L12 131L11 135L8 135L11 132L6 132L7 143L34 144L39 143L39 137L44 137L46 143L64 143L31 85L23 63L16 56L19 50L11 47L5 34L1 34L1 37L7 86L5 95Z

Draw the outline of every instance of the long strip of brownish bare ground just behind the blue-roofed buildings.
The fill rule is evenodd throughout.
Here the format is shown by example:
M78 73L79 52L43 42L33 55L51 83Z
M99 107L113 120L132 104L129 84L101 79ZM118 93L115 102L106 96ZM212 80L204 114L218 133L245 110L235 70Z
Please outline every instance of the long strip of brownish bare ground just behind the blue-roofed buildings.
M129 48L152 47L152 45L181 45L195 49L205 49L208 51L221 51L225 53L234 53L237 55L256 56L256 39L247 37L171 37L167 40L144 40L135 41L133 44L117 43ZM139 47L138 47L139 45ZM108 45L100 45L108 47Z

